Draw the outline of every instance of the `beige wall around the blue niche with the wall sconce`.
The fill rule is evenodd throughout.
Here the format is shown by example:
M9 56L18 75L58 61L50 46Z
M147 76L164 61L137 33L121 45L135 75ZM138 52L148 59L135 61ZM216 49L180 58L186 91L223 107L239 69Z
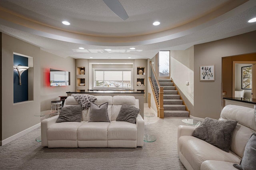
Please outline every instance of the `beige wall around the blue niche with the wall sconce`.
M32 57L32 100L13 103L13 54ZM31 90L31 89L30 89ZM2 34L2 140L40 123L40 48Z

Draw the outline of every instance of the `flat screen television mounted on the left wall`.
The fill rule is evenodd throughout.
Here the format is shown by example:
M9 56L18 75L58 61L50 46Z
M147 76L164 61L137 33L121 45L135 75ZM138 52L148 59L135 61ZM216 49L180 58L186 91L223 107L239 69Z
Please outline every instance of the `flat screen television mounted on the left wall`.
M70 85L70 72L50 69L50 86Z

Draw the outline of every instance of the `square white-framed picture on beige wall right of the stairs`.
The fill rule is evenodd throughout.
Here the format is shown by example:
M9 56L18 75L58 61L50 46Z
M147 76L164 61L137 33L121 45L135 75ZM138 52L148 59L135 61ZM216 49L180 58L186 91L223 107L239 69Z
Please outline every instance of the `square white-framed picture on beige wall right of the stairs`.
M214 81L214 65L200 66L200 81Z

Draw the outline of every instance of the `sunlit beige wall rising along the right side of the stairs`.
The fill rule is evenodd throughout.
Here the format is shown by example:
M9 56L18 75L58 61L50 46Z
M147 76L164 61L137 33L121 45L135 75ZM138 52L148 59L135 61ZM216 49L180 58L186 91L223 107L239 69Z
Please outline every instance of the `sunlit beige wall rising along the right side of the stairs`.
M183 51L170 53L170 77L193 115L194 110L194 46ZM188 85L186 85L188 81Z

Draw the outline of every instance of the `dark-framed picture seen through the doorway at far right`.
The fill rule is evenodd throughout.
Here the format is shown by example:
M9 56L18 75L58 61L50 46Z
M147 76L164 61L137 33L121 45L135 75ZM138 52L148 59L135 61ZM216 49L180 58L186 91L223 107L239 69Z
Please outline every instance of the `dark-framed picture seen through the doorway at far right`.
M252 66L242 67L242 89L252 89Z

